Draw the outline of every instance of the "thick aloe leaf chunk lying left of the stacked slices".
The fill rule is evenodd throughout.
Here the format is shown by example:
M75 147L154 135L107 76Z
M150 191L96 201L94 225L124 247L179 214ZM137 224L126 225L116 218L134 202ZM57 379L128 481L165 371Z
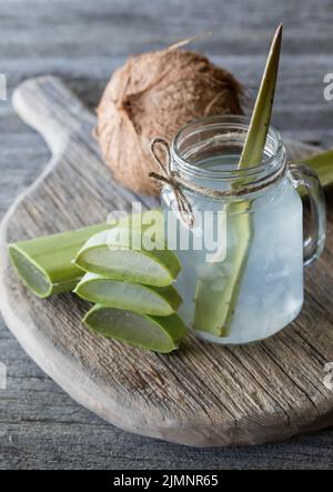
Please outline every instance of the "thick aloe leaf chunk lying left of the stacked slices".
M9 244L10 260L21 281L39 298L71 291L83 272L72 259L105 223Z

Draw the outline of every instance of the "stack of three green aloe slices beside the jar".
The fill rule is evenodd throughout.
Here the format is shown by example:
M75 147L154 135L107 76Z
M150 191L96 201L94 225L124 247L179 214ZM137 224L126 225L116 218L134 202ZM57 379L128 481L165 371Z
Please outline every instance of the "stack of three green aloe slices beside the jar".
M142 232L120 227L90 238L75 257L88 273L74 292L95 303L83 319L93 332L169 353L186 333L175 313L181 298L171 285L181 265L159 233L148 249Z

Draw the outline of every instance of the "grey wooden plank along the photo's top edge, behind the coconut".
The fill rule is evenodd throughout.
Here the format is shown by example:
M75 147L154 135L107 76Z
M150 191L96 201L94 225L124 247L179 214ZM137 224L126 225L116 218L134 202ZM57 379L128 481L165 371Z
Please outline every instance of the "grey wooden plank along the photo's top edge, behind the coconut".
M152 42L162 46L204 30L214 33L203 44L211 51L265 53L265 42L281 21L286 28L286 51L331 53L332 50L330 0L322 0L320 7L315 0L304 0L302 8L296 0L275 4L256 0L246 8L242 0L233 1L232 6L219 0L163 3L141 0L140 4L117 0L111 6L108 0L84 3L33 0L29 6L24 0L16 0L14 7L12 1L1 2L1 27L14 57L21 56L22 44L31 58L39 53L63 56L68 50L74 56L140 52Z

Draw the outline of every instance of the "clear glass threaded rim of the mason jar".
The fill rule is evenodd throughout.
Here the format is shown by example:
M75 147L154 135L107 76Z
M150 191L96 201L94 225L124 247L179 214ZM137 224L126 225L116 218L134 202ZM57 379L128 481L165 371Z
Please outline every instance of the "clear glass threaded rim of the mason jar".
M234 170L226 170L226 169L220 169L220 170L208 170L200 168L191 162L189 162L182 154L180 150L180 145L182 142L182 139L184 138L184 134L188 132L189 135L195 135L195 133L202 132L204 129L211 128L212 130L216 128L216 130L220 129L226 129L226 128L234 128L239 130L244 130L244 135L246 133L246 130L250 124L250 117L240 116L240 114L223 114L223 116L215 116L215 117L204 117L196 120L192 120L184 127L182 127L175 137L172 140L171 143L171 157L173 163L175 163L175 167L186 174L193 175L193 177L200 177L203 179L214 179L214 180L232 180L236 178L251 178L251 181L255 181L256 179L262 179L263 174L264 178L271 178L276 172L280 172L281 167L284 164L284 157L285 157L285 149L282 141L282 138L280 135L280 132L273 127L270 125L268 131L268 141L270 140L271 143L273 142L273 153L268 154L265 153L262 162L260 162L256 165L252 165L244 169L234 169ZM191 132L191 129L193 131Z

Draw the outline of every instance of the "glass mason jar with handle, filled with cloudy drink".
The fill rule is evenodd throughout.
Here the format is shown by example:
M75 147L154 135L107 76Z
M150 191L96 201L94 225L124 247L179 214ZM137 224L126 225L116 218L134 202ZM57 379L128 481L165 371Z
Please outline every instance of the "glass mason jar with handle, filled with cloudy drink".
M191 220L174 187L162 190L168 243L182 264L180 314L201 339L220 344L262 340L293 321L303 305L304 265L321 254L325 239L319 179L303 164L286 164L274 128L262 162L238 169L249 122L204 118L175 135L171 170ZM303 240L305 191L312 228Z

